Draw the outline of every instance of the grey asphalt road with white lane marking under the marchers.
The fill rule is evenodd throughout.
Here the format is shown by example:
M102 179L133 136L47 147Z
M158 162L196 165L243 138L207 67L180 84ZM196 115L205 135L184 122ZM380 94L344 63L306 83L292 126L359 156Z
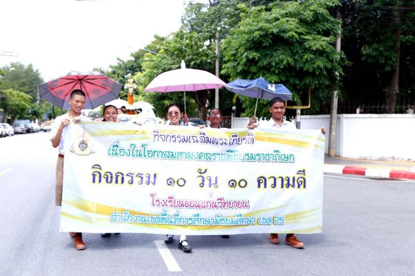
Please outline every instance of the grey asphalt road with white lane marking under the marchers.
M77 251L59 232L49 135L0 139L1 276L414 274L415 182L356 176L325 176L323 232L297 235L304 250L268 234L188 236L187 254L159 234L86 233Z

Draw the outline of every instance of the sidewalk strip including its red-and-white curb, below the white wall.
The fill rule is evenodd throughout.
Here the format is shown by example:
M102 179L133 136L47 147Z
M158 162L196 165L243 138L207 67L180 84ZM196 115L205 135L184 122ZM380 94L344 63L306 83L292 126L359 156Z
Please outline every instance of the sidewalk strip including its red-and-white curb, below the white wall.
M324 156L324 173L415 180L415 162Z

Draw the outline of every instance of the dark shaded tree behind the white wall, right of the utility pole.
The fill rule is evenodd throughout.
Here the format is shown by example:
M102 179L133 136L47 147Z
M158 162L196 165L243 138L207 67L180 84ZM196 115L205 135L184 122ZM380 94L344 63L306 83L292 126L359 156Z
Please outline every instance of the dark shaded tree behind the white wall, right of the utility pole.
M369 1L367 1L369 2ZM415 1L353 1L343 20L344 97L385 101L394 113L396 101L413 99L415 89Z

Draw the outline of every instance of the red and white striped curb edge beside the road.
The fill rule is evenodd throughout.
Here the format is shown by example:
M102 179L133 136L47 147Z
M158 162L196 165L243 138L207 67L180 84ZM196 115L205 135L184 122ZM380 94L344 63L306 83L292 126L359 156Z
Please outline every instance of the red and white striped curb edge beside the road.
M379 169L374 167L353 167L345 165L324 164L324 173L330 174L358 174L360 176L415 179L415 172L395 169Z

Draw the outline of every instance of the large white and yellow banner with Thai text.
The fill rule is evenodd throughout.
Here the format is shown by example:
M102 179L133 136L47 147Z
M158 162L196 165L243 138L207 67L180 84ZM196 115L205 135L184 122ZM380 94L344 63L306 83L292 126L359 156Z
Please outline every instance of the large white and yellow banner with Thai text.
M322 232L317 130L68 125L62 232Z

